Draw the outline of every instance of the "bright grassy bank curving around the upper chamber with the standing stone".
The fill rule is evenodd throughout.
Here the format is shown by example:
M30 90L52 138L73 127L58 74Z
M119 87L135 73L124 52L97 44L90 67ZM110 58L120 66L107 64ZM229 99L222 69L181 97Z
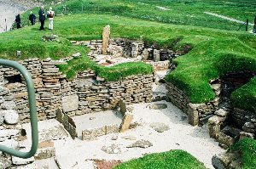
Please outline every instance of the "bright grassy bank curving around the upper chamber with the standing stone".
M74 5L76 2L80 1L70 1L69 3L70 5ZM120 2L117 0L101 4L98 4L96 1L91 2L88 4L97 4L100 8L105 8L106 5L110 5L110 2L113 3L113 7L117 8L122 5L128 5L126 1ZM208 1L198 2L209 3ZM133 4L132 8L140 8L141 3L137 1L131 1L131 3ZM152 4L155 5L156 2L152 1ZM235 5L236 8L241 8L235 2L232 4ZM213 6L215 7L216 5L212 5L212 7ZM189 7L186 6L186 8ZM186 8L184 7L184 9ZM109 10L112 10L112 8ZM250 10L251 9L248 9L248 11ZM220 30L221 27L219 26L215 26L218 29L212 29L189 24L170 25L137 19L126 13L113 15L113 13L108 12L108 10L101 10L101 12L107 14L71 14L55 17L55 31L38 31L39 25L35 25L17 31L3 33L0 35L1 39L3 39L3 41L0 42L0 57L17 59L15 57L15 51L21 50L22 58L19 59L32 57L42 59L52 57L58 59L67 57L77 51L82 51L85 59L85 61L83 60L83 66L79 66L81 62L77 61L70 63L67 67L62 69L64 73L67 73L68 77L74 76L76 71L89 68L96 70L98 75L104 76L109 81L123 78L133 73L137 74L140 71L148 73L150 69L143 64L120 65L117 66L117 68L101 68L95 66L93 63L86 64L86 49L73 47L70 42L68 42L68 40L101 39L102 27L110 25L111 37L140 39L177 51L184 46L192 47L189 54L185 54L174 60L177 69L166 76L166 81L172 82L182 89L188 95L192 103L205 103L214 99L214 93L209 85L210 80L216 79L229 72L241 70L256 71L256 38L252 34L240 31ZM245 14L246 12L247 11L244 11ZM170 12L170 14L171 13L172 12ZM122 17L120 15L127 15L129 17ZM154 15L154 13L152 13L152 15ZM171 17L171 15L169 17ZM195 23L195 20L193 23ZM214 25L214 22L211 23ZM50 35L51 33L58 35L60 42L42 42L41 38L43 35ZM177 39L178 42L173 43ZM126 70L124 69L125 66L133 67ZM142 67L140 68L140 66ZM133 69L134 67L136 67L136 69ZM119 76L119 74L122 74L122 76ZM241 98L242 100L247 100L247 96L250 96L249 98L256 98L254 91L254 85L248 85L247 90L239 93L239 97L233 97L232 100L235 106L241 106L241 104L239 104ZM251 108L249 109L252 110Z

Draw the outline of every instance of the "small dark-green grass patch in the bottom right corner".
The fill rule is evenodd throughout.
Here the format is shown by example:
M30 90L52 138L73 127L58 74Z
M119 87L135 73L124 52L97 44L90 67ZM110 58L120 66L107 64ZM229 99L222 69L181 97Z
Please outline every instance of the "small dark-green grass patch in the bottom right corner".
M251 169L256 166L256 141L251 138L242 139L232 145L230 152L241 155L241 168Z

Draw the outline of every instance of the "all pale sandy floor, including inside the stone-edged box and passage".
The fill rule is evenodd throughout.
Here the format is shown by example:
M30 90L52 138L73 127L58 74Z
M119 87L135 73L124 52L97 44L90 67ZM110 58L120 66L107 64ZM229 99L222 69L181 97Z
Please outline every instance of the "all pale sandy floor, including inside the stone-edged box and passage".
M166 71L156 73L156 76L159 77L165 75ZM165 84L154 84L153 92L154 94L166 95ZM162 110L150 109L150 105L156 103L166 104L167 108ZM49 168L55 169L59 166L62 169L93 169L95 166L94 161L96 160L129 161L146 154L164 152L171 149L183 149L203 162L207 168L213 168L212 156L225 151L218 146L218 143L214 139L209 137L207 125L203 127L190 126L187 121L187 115L177 109L172 103L159 101L154 103L131 104L128 107L133 109L134 119L132 122L137 122L139 126L127 132L112 133L90 141L83 141L79 139L80 137L73 140L55 119L38 121L39 142L45 139L51 139L55 144L55 158L36 161L38 168L48 166ZM101 115L104 113L105 115ZM91 125L95 127L105 123L107 124L110 120L119 121L118 116L112 115L110 117L112 114L111 111L98 112L96 114L80 115L73 118L78 125L78 130L81 127L88 127L86 123L88 123L88 118L91 116L96 118L94 121L97 124ZM109 117L106 115L109 115ZM163 123L169 127L169 130L157 132L150 127L153 123ZM28 139L21 144L29 147L28 140L31 140L30 124L23 124L22 126L26 129ZM48 134L45 134L46 132ZM142 139L149 141L153 146L145 149L127 148L127 146ZM102 147L105 146L108 148L111 145L115 147L114 152L116 154L108 154L102 150ZM56 166L55 161L58 163L58 166Z

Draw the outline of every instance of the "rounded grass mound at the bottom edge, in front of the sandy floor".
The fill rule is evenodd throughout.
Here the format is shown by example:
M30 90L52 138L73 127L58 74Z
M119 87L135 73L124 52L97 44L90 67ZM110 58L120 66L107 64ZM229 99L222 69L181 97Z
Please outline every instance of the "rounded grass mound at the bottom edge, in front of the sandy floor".
M203 169L206 168L195 157L183 150L171 150L164 153L154 153L141 158L127 161L114 169Z

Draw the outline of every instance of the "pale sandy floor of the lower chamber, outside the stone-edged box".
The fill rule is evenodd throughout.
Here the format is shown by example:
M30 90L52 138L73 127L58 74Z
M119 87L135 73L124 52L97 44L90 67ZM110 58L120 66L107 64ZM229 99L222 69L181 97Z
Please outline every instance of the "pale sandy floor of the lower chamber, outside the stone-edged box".
M224 149L218 147L218 143L209 138L207 125L203 127L191 127L187 122L187 115L183 114L171 103L160 101L157 103L167 104L164 110L150 110L149 104L132 104L134 120L141 126L123 133L108 134L91 141L82 141L79 138L73 140L70 137L63 136L62 139L54 140L56 157L61 168L93 168L94 160L120 160L128 161L138 158L145 154L154 152L163 152L171 149L183 149L194 155L199 161L203 162L207 168L212 167L212 156L224 152ZM165 123L170 127L166 132L156 132L149 127L154 122ZM61 124L55 120L39 121L39 132L47 131L53 127L61 127ZM27 133L29 124L23 125ZM60 134L55 137L60 138ZM113 138L116 138L113 140ZM125 139L134 138L135 140ZM43 137L39 136L42 141ZM148 140L153 144L152 147L126 148L137 140ZM107 154L102 151L103 146L115 144L120 149L119 154ZM44 161L44 164L47 162ZM52 165L52 160L48 162ZM86 167L84 167L86 166ZM51 166L50 168L54 168Z

